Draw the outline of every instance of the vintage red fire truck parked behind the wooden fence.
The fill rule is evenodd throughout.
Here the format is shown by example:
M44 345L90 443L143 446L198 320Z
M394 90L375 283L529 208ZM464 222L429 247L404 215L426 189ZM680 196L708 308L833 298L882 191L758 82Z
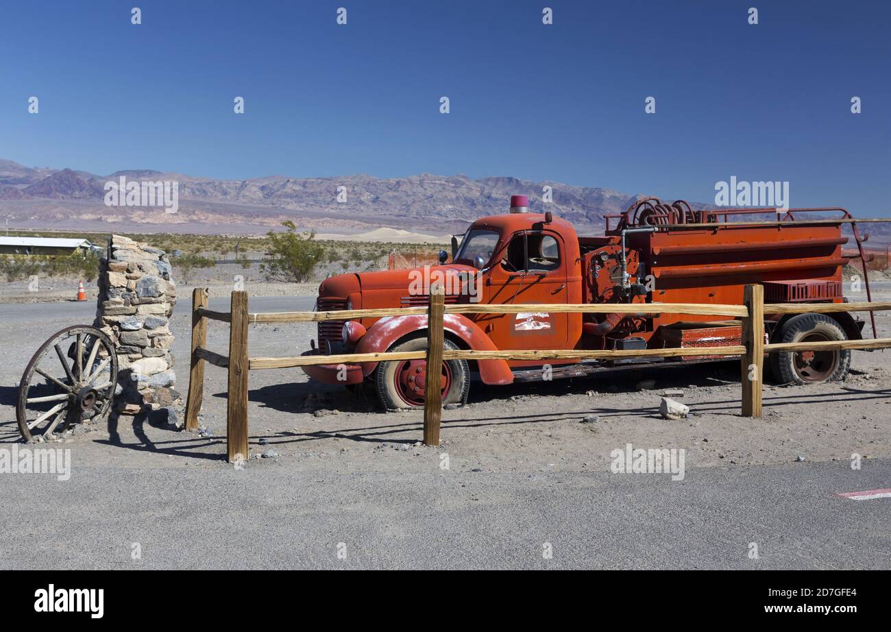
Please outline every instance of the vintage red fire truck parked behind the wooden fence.
M526 196L515 195L511 212L479 218L453 239L451 262L443 250L436 267L332 276L320 285L316 308L426 305L429 294L419 278L444 283L446 304L740 304L748 283L764 285L765 302L840 302L842 267L850 259L842 253L848 238L840 220L851 219L845 209L694 210L684 201L647 198L607 216L603 235L584 237L551 212L529 212ZM863 240L849 226L862 256ZM871 300L865 275L863 281ZM847 313L767 317L770 341L862 338L863 322ZM314 341L307 353L425 349L426 328L427 316L323 322L317 346ZM739 321L671 313L446 314L445 328L446 349L484 350L683 349L738 345L741 335ZM777 353L767 365L779 382L822 382L842 379L850 359L845 350ZM576 377L611 365L561 360L546 373ZM303 369L322 382L366 384L388 408L424 402L423 360ZM492 386L545 374L541 362L521 360L449 360L440 370L446 404L466 400L471 374Z

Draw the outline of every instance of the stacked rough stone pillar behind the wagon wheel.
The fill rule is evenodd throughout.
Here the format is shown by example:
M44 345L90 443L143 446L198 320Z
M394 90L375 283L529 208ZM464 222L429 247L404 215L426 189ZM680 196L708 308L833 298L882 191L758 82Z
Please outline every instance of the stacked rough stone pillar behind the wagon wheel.
M179 425L169 327L176 283L170 272L163 250L113 235L100 266L95 326L111 337L118 352L118 412L167 408L168 422Z

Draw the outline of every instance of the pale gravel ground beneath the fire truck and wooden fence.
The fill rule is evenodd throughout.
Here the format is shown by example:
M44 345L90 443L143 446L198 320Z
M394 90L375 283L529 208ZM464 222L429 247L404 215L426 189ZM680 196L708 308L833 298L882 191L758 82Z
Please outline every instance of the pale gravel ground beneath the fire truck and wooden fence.
M171 323L177 335L178 388L183 393L190 344L187 302L179 305ZM889 335L891 314L879 312L877 317L879 334ZM74 323L61 318L33 327L0 323L0 340L15 341L4 344L2 351L0 440L18 437L12 404L28 358L49 333L67 324ZM314 337L312 324L251 325L250 355L298 354ZM208 348L226 353L227 347L225 324L212 322ZM531 464L542 470L556 466L604 470L609 467L609 452L627 442L686 448L691 466L788 463L797 456L846 460L853 453L891 456L887 434L891 370L885 354L854 351L854 370L845 382L765 387L760 420L740 416L740 372L735 361L625 369L497 388L474 382L468 406L443 412L443 449L460 450L479 467L501 471L524 471ZM655 381L654 388L636 390L647 380ZM249 383L254 454L273 447L282 460L327 459L349 450L372 463L406 445L411 446L410 454L434 449L412 445L421 439L422 411L379 412L373 401L309 382L299 369L254 371ZM683 390L683 397L674 398L691 406L688 419L660 417L660 393L666 389ZM179 458L166 466L214 467L217 457L225 454L225 390L225 371L208 365L202 419L213 434L206 439L156 428L152 419L134 422L121 417L110 429L77 429L70 440L78 451L102 462L154 463L159 453L169 450ZM591 415L597 421L582 423ZM110 449L109 440L130 449ZM188 458L192 453L213 458L195 461Z

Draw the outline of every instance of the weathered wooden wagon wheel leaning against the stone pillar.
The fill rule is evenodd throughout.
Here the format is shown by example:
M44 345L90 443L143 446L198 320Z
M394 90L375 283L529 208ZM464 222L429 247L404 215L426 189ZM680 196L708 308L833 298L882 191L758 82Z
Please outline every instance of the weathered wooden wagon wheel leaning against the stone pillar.
M37 349L19 384L15 414L26 441L108 414L118 383L118 357L107 335L76 324L55 332Z

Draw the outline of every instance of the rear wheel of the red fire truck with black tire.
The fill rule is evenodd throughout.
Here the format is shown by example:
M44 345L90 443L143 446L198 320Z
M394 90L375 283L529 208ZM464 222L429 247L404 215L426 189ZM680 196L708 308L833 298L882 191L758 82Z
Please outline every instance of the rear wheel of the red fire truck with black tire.
M846 341L841 325L823 314L799 314L781 324L773 342ZM798 351L772 353L771 372L781 384L839 382L851 368L851 352Z

